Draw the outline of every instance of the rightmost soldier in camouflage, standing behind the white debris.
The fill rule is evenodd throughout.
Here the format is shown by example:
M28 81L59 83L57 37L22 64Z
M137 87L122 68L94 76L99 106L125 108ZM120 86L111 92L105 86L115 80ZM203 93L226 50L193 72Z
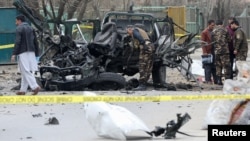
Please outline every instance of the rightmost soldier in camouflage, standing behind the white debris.
M231 22L231 28L234 32L234 54L236 61L246 61L248 52L247 37L242 28L239 26L238 21Z

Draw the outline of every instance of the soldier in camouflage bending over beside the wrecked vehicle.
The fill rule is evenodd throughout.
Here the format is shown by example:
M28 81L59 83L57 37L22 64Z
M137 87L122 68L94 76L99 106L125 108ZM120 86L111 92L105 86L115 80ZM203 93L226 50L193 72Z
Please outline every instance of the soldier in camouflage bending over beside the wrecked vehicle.
M132 25L127 26L127 33L132 37L134 47L140 49L139 55L139 86L134 91L146 90L146 83L150 78L153 67L154 46L148 34L141 28Z

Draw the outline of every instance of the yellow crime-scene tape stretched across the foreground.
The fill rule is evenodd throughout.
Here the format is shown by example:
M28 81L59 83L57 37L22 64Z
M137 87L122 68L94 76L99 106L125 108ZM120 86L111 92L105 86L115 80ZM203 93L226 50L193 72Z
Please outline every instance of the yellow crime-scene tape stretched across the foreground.
M0 96L0 104L45 104L45 103L84 103L84 102L161 102L182 100L229 100L250 99L244 95L161 95L161 96L83 96L83 95L37 95L37 96Z

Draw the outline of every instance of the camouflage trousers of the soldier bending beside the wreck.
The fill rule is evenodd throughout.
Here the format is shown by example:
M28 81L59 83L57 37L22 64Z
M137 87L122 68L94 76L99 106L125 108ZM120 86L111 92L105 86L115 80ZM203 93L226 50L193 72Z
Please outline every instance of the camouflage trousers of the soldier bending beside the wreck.
M140 55L139 55L139 82L147 83L152 73L153 68L153 52L154 46L152 44L146 45L147 49L145 50L143 45L140 45Z

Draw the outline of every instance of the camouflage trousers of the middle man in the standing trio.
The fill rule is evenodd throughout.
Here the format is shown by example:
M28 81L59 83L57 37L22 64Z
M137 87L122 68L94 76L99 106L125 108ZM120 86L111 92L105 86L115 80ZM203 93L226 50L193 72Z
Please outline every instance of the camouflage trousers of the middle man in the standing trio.
M225 79L231 78L231 63L229 53L227 54L215 54L215 67L216 75L222 77L222 70L224 70Z

